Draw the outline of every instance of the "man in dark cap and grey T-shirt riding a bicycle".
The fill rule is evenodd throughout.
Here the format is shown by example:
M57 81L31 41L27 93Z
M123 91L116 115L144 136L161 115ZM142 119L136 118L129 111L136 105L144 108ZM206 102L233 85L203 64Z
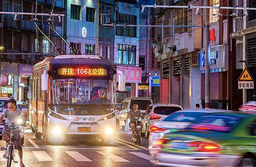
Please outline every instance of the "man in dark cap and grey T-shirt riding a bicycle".
M21 118L21 120L23 120L24 122L24 118L22 115L21 110L16 109L15 107L16 105L16 100L15 99L9 99L8 103L7 103L7 109L4 109L3 114L0 117L0 123L3 122L3 119L5 117L5 123L13 123L13 122L17 122L17 120L19 118ZM5 142L8 142L6 135L5 135L5 130L8 127L4 127L4 129L2 130L2 134L3 134L3 139L5 140ZM18 154L19 154L19 158L20 158L20 167L25 167L25 165L23 164L22 158L23 158L23 151L22 151L22 147L21 147L21 138L20 135L19 137L14 141L14 148L16 150L18 150Z

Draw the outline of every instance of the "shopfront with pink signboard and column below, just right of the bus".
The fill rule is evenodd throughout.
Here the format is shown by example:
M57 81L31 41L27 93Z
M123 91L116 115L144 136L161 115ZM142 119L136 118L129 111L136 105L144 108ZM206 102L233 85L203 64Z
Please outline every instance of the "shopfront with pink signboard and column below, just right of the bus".
M121 70L124 73L125 86L131 87L131 97L138 97L138 84L141 83L141 68L135 66L117 66L117 70Z

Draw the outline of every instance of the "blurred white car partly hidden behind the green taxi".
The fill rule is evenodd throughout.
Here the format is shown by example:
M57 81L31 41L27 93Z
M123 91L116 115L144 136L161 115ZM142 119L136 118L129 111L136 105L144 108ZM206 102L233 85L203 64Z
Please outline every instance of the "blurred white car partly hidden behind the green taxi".
M166 133L175 132L180 129L185 129L188 125L193 123L197 118L208 113L225 112L227 110L216 109L188 109L180 110L172 113L162 121L155 122L149 128L149 154L156 156L161 146L161 138Z

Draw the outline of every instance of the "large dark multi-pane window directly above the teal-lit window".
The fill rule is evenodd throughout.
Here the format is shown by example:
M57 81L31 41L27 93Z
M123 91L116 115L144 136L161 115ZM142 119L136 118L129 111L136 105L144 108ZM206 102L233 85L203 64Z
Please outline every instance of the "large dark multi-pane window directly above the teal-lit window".
M137 24L137 17L117 13L117 24ZM116 27L116 34L120 36L136 37L136 27Z

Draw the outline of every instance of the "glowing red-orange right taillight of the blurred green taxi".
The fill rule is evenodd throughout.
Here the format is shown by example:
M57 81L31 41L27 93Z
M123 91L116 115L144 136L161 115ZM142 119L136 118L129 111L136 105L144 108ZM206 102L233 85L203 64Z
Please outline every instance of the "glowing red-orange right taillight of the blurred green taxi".
M219 146L215 143L208 142L190 142L187 144L190 147L197 147L199 152L217 152L219 151Z

